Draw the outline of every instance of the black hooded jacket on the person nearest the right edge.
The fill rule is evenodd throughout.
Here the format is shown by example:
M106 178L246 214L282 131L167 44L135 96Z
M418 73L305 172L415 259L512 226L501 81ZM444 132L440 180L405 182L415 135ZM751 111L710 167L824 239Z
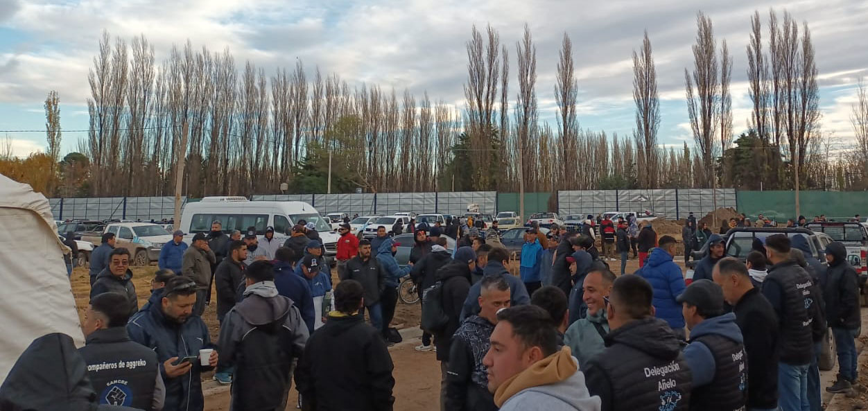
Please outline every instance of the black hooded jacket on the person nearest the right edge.
M836 241L826 246L825 253L834 258L826 271L826 321L832 328L858 329L862 323L859 314L858 275L847 262L847 249Z

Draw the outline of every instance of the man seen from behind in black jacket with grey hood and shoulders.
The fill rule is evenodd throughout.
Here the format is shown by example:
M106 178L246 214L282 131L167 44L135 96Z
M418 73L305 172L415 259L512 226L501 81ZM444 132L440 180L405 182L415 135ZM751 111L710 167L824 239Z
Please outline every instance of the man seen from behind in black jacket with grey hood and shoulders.
M293 300L278 294L271 262L256 261L245 274L245 298L220 324L219 364L234 369L233 411L282 410L307 325Z

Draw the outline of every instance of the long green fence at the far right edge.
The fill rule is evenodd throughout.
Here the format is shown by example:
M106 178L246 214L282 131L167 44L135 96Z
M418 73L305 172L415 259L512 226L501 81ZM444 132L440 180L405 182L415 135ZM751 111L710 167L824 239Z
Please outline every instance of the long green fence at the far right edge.
M763 191L736 193L739 212L756 219L760 213L773 219L795 219L796 193ZM868 214L868 192L799 192L799 212L809 220L825 214L828 219L848 219Z

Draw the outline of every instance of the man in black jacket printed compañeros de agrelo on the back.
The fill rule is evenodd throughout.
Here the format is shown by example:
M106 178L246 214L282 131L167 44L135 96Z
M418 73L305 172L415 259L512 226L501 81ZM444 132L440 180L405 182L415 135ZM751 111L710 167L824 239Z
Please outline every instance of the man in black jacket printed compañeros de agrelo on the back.
M117 292L90 300L82 331L87 345L78 349L88 364L90 382L101 404L159 411L166 400L157 355L129 340L128 301ZM109 367L118 363L135 367Z

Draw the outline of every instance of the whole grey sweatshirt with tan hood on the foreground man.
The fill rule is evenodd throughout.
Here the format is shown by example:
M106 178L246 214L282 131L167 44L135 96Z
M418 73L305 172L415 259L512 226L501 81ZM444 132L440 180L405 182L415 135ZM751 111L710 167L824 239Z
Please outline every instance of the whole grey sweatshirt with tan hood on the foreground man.
M501 411L600 410L600 397L589 394L568 347L503 382L494 401Z

